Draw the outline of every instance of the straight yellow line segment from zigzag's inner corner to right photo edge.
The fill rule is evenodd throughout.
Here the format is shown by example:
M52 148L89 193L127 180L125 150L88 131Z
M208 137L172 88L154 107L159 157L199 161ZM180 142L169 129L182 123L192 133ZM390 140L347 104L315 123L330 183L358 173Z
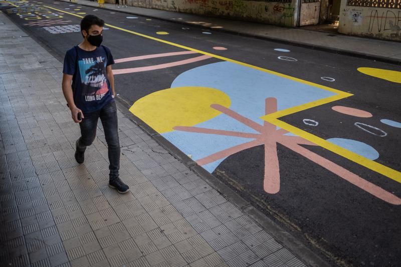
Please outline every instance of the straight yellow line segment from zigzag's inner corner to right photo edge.
M266 118L267 117L267 118ZM317 137L316 135L313 135L311 133L308 133L304 130L301 130L295 126L292 126L286 122L280 121L277 118L270 117L270 116L265 116L264 118L265 121L273 123L280 128L283 128L293 134L296 134L298 136L301 136L302 138L311 141L312 143L315 143L323 148L326 148L327 150L330 150L340 156L343 156L344 158L347 158L353 162L356 162L368 169L371 169L375 172L378 172L380 174L383 174L384 176L387 176L388 178L393 179L394 181L397 181L401 183L401 172L396 171L394 169L391 169L387 166L384 166L378 162L375 162L373 160L370 160L368 158L365 158L359 154L356 154L352 151L349 151L345 148L342 148L340 146L337 146L335 144L330 143L327 140L324 140L320 137Z

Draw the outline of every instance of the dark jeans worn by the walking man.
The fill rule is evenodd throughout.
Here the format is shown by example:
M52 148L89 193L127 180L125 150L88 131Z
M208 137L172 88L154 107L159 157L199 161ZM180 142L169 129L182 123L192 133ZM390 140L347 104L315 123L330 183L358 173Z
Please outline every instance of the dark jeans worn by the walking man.
M85 152L96 137L96 126L100 118L109 154L110 180L118 177L120 169L120 141L118 139L117 107L114 100L107 103L102 109L84 113L84 119L80 122L81 137L78 139L78 151Z

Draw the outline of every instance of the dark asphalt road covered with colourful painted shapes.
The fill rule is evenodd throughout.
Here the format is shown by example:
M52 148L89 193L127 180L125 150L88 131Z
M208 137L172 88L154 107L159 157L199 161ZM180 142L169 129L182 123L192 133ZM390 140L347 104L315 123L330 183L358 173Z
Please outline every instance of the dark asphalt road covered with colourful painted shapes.
M113 66L114 70L127 72L116 74L115 83L119 98L129 105L140 99L148 99L146 97L154 92L172 87L216 88L231 98L230 108L233 111L262 125L260 117L267 113L259 110L264 108L266 97L277 98L278 109L282 110L310 101L320 101L335 94L334 91L325 91L321 86L353 94L288 114L280 120L316 138L330 139L339 146L345 146L358 155L370 158L362 165L355 160L355 155L346 158L338 155L337 150L327 147L303 142L294 145L290 141L276 145L273 142L276 137L272 133L275 126L269 128L269 124L265 123L264 129L269 128L270 131L266 133L263 129L258 130L255 125L252 127L245 119L234 116L237 118L235 119L233 114L228 115L227 110L225 115L214 117L209 122L204 119L187 126L226 131L248 129L247 132L261 135L263 132L264 143L245 147L241 146L248 142L241 139L244 136L227 137L227 133L216 131L191 136L190 133L179 133L179 130L155 130L185 154L191 154L194 160L207 159L208 153L226 151L225 156L219 160L208 158L211 165L205 164L206 168L314 251L326 256L333 265L399 266L401 207L398 202L391 203L379 196L383 195L384 190L384 195L388 193L395 202L401 197L401 129L394 127L394 124L391 126L381 122L382 119L401 122L401 86L399 83L357 71L359 67L399 71L398 66L197 27L185 27L124 13L79 7L70 3L47 0L13 3L15 6L2 4L0 7L15 23L46 45L61 60L68 49L81 42L80 32L73 27L79 25L80 18L74 15L85 14L95 14L111 25L106 26L108 29L104 31L103 44L111 49L115 60L179 52L169 56L131 59ZM166 32L168 35L157 32ZM177 45L205 53L180 53L188 50ZM171 65L171 62L175 64ZM279 74L264 72L255 66ZM181 102L174 102L174 96L176 95L163 95L167 106L183 103L182 99ZM198 100L204 101L203 95L199 95ZM197 99L192 102L188 100L191 105L196 105L196 101ZM359 113L351 111L352 114L349 115L344 110L342 113L337 112L333 110L334 106L355 108ZM151 111L153 109L154 107L149 108ZM169 114L168 110L167 113ZM259 115L252 117L254 113ZM161 125L160 122L147 121L135 112L134 115L153 128L158 126L157 123ZM161 119L170 118L168 115ZM219 118L223 119L219 121ZM226 122L227 127L223 125ZM205 148L209 146L209 150ZM227 151L236 146L241 146L241 149ZM275 157L278 165L269 165L274 162L272 158ZM379 172L374 171L375 163L384 167L380 167ZM339 173L335 173L330 166ZM390 170L393 171L392 175ZM352 180L355 177L353 175L361 180ZM266 192L274 190L266 188L275 184L273 180L277 177L280 184L278 192Z

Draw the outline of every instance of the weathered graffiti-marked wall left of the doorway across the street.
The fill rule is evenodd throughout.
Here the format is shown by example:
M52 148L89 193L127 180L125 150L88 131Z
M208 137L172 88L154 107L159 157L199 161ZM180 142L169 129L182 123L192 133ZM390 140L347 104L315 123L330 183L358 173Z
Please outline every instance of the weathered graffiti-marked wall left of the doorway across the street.
M105 2L114 3L114 0ZM248 0L128 0L128 5L294 27L295 2L296 0L290 4Z

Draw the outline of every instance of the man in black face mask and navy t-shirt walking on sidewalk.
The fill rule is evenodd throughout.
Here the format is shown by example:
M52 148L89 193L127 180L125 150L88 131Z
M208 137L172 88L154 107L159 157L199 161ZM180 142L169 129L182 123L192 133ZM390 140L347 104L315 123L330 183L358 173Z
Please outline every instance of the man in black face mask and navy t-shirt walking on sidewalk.
M129 191L119 178L120 143L118 139L117 107L114 97L114 64L110 50L101 46L104 21L87 15L81 21L84 40L68 50L64 58L63 93L72 119L79 123L81 137L76 142L75 159L83 163L85 149L96 137L100 118L108 147L109 186L119 193Z

